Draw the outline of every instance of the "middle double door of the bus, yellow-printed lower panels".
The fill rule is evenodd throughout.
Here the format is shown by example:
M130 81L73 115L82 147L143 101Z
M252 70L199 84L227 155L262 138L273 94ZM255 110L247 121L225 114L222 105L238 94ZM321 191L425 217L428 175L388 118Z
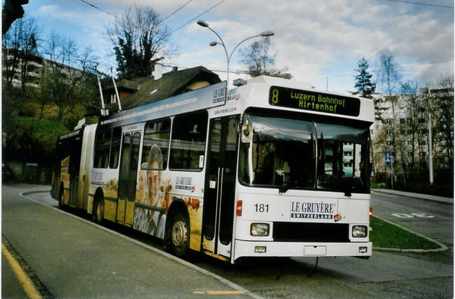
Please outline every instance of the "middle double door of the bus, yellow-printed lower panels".
M117 222L133 224L141 133L124 133L120 157Z

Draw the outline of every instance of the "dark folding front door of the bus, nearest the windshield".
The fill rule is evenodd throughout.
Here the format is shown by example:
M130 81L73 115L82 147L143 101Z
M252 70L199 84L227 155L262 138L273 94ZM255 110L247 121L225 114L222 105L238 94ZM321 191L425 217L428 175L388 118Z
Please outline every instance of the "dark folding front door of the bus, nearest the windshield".
M210 121L204 187L204 251L230 258L234 220L237 122L239 116Z

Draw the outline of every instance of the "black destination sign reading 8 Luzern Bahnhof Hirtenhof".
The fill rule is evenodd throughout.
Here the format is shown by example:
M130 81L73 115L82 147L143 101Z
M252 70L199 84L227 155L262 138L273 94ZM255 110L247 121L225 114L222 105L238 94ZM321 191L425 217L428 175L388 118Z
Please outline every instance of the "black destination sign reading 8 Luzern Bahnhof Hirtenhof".
M354 117L360 113L360 100L357 98L280 86L270 87L269 103L274 106Z

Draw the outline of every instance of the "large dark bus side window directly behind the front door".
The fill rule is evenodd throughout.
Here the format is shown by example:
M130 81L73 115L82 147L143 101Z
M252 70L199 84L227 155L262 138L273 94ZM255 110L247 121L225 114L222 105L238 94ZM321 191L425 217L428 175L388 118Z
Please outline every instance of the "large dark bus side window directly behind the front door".
M207 137L207 111L174 118L170 144L170 169L201 170Z

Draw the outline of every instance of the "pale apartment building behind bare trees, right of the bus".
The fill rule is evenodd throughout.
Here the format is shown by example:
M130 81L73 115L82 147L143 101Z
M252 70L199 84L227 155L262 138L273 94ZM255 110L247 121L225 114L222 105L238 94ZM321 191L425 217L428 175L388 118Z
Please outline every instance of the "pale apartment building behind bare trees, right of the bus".
M428 86L420 88L417 94L394 95L374 94L379 103L382 120L376 120L371 127L373 142L373 163L377 172L390 172L385 166L385 151L391 151L394 170L398 175L409 175L416 167L427 168L429 163L429 122L433 133L441 134L443 118L439 118L438 101L442 97L452 97L453 89L447 86ZM430 118L431 119L430 120ZM453 120L452 120L453 122ZM434 136L435 137L435 136ZM440 138L432 144L432 153L438 163L449 163L445 144ZM453 163L453 162L452 162Z

